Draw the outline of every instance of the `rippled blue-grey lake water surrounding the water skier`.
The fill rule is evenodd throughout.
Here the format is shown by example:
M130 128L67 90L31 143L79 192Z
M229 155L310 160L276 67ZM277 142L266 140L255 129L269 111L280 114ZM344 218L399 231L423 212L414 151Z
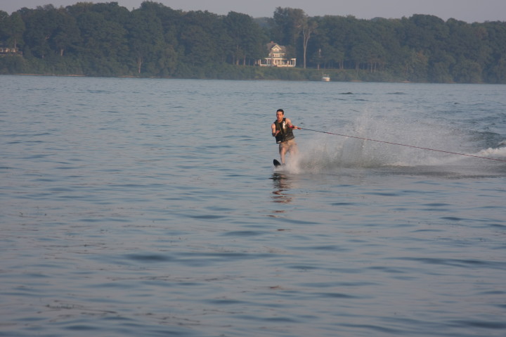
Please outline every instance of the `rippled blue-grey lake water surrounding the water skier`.
M0 80L0 336L506 336L505 86Z

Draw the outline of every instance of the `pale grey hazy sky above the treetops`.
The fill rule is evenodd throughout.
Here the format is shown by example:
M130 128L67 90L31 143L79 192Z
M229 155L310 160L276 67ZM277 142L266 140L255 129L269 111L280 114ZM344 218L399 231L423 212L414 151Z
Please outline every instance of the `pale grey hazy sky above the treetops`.
M79 0L0 0L0 10L10 14L22 7L36 8L46 4L59 7L77 2ZM117 2L119 6L124 6L131 11L138 8L143 0L88 2ZM155 2L183 11L207 10L223 15L229 11L235 11L254 18L272 17L276 7L291 7L300 8L309 16L354 15L356 18L371 19L430 14L443 20L455 18L468 23L506 21L506 0L158 0Z

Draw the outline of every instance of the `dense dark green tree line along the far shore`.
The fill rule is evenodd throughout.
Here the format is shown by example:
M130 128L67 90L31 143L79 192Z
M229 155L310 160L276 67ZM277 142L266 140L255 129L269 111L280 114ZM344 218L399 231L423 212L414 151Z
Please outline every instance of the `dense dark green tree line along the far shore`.
M256 66L276 42L297 68ZM0 11L0 74L506 83L506 23L434 15L360 20L275 8L272 18L145 1Z

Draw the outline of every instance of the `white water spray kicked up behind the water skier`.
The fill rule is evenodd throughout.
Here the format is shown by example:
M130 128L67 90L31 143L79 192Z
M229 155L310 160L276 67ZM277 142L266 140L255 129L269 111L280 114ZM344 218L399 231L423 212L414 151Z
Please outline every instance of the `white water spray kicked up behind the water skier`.
M286 167L290 172L323 172L342 167L460 165L469 169L506 165L505 144L476 150L476 142L472 139L476 134L472 137L460 129L399 116L375 118L365 113L343 127L329 128L325 132L306 130L322 134L301 147L299 157L292 158ZM487 163L492 160L496 163Z

